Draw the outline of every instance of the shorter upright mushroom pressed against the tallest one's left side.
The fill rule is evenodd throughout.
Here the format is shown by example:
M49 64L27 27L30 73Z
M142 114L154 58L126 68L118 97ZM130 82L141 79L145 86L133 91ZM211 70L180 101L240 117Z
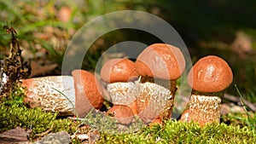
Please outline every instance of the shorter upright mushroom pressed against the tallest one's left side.
M137 114L138 88L134 80L138 74L134 62L128 59L108 60L101 70L102 81L108 83L107 91L114 105L126 105Z

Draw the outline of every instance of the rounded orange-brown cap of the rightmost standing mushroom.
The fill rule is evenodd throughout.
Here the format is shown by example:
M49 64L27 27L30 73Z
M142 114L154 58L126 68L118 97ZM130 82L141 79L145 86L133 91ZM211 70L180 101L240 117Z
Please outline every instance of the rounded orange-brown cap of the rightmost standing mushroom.
M188 83L200 92L219 92L233 81L228 63L218 56L208 55L195 63L189 72Z

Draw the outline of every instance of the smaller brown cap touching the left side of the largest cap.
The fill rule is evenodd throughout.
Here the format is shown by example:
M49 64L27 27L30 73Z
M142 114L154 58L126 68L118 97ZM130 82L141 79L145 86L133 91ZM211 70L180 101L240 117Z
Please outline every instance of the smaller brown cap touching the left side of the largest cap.
M137 78L134 62L128 59L108 60L101 71L102 80L108 83L127 82Z

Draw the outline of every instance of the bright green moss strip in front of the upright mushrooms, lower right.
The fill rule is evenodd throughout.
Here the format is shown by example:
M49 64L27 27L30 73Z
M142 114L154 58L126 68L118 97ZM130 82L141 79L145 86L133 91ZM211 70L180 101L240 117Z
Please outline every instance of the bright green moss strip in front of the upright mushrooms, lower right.
M146 127L137 133L126 135L102 134L98 143L255 143L256 135L247 127L228 126L226 124L208 124L201 128L199 124L166 121Z

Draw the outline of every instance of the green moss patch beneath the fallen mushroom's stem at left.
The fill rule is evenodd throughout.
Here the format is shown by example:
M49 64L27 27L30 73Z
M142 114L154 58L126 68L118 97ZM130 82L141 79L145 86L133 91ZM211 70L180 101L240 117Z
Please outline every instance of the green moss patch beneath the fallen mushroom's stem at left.
M24 94L20 88L0 103L0 133L17 126L26 130L32 129L32 138L38 137L37 134L47 130L51 130L50 132L66 130L70 134L75 132L78 124L72 120L57 119L58 113L43 112L40 108L26 107L23 104L23 99Z

